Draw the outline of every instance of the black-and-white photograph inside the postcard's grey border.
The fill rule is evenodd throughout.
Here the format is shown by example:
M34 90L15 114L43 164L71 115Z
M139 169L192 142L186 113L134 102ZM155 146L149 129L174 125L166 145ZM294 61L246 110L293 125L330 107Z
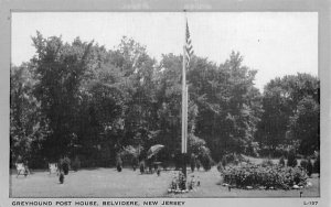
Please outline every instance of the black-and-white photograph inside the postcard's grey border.
M317 11L12 10L9 198L318 205L320 26Z

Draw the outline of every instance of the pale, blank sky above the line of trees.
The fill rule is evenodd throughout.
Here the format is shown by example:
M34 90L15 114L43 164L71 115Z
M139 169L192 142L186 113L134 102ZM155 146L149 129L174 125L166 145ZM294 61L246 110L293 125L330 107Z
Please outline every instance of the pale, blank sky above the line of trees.
M20 65L35 54L36 31L70 43L94 40L107 50L126 35L160 61L161 54L182 53L185 17L195 55L221 64L239 52L243 65L258 70L260 90L275 77L318 76L317 12L13 12L11 62Z

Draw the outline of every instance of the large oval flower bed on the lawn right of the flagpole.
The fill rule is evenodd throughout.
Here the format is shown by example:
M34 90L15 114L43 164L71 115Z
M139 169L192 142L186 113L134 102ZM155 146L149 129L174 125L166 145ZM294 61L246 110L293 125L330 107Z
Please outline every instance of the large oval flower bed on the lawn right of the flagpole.
M224 185L237 188L302 188L307 185L306 171L280 165L261 166L247 164L222 171Z

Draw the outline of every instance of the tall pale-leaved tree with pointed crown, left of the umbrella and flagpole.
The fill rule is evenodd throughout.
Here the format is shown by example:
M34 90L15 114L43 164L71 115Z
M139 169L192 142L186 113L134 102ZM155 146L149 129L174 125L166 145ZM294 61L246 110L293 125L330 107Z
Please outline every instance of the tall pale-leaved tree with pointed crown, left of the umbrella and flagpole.
M124 74L126 108L124 112L125 131L121 144L142 145L148 150L154 142L158 128L154 67L156 59L147 54L145 46L132 39L122 37L115 52L115 65Z

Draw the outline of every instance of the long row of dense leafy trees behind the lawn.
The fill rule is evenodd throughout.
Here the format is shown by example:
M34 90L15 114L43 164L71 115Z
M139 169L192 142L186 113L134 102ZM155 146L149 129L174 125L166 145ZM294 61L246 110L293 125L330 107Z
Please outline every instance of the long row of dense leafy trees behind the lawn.
M158 63L124 37L115 50L94 42L33 40L36 55L11 67L11 163L43 167L60 157L109 166L121 152L153 144L171 161L181 150L182 56ZM188 68L189 153L220 161L227 153L279 156L320 148L319 80L308 74L275 78L263 94L256 70L233 52L217 65L193 56ZM289 66L290 67L290 66Z

